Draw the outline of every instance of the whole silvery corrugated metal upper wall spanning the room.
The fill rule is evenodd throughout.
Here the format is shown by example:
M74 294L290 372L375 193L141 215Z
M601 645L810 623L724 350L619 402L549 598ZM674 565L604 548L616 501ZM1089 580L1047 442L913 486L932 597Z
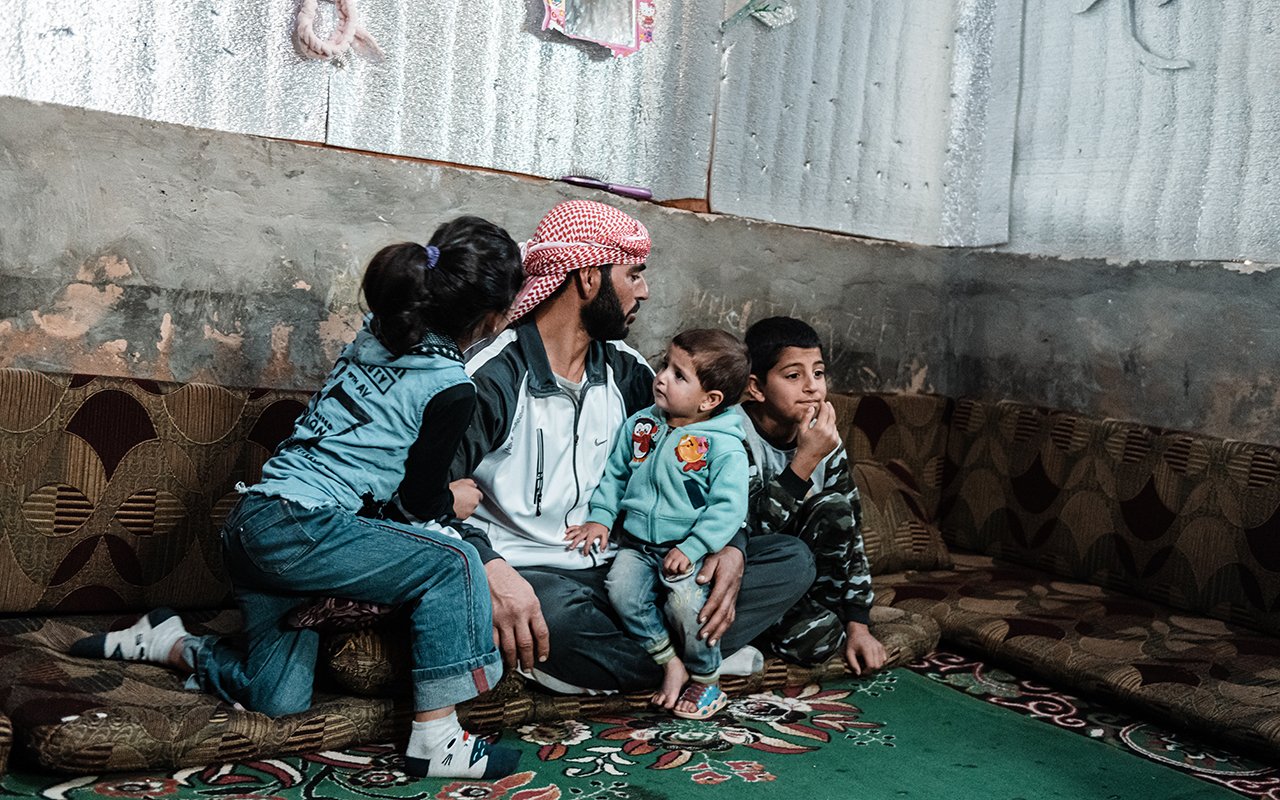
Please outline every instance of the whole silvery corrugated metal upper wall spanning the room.
M710 166L718 211L908 242L1280 261L1280 0L795 0L722 58L740 4L672 0L613 59L539 31L541 0L362 0L388 59L334 65L293 52L296 0L12 0L0 95L659 198L705 197ZM1193 67L1143 68L1126 4Z

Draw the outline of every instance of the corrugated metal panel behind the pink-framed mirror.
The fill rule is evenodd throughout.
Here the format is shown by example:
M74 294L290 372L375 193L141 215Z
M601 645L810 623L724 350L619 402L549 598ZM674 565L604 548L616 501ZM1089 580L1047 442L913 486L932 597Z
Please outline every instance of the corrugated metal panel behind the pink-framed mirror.
M330 143L705 197L721 0L663 3L626 58L540 32L540 0L361 8L392 58L335 74Z

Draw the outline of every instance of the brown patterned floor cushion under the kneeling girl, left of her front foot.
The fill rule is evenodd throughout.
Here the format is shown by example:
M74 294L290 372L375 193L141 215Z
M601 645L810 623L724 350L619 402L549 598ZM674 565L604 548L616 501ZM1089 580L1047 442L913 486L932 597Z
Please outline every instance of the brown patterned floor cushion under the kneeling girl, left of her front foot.
M183 617L195 634L239 626L237 612ZM307 712L271 718L187 691L164 667L67 655L87 632L133 618L0 620L0 710L40 767L73 773L197 767L378 741L408 724L408 709L390 700L324 694Z

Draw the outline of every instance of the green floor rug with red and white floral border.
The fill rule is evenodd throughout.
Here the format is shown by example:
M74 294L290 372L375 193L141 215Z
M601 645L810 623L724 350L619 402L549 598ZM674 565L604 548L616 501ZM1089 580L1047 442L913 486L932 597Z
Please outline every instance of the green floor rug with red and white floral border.
M969 696L908 669L736 699L705 722L604 717L525 726L503 744L525 769L494 783L416 781L390 746L74 778L14 772L0 796L436 797L1235 797L1170 767ZM780 794L782 792L782 794Z

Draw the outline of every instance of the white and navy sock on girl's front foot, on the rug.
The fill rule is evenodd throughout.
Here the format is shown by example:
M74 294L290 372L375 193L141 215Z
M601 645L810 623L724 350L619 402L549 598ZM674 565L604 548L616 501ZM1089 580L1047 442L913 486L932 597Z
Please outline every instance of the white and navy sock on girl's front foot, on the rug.
M415 722L404 772L433 778L502 778L516 771L520 751L490 745L462 730L458 714Z

